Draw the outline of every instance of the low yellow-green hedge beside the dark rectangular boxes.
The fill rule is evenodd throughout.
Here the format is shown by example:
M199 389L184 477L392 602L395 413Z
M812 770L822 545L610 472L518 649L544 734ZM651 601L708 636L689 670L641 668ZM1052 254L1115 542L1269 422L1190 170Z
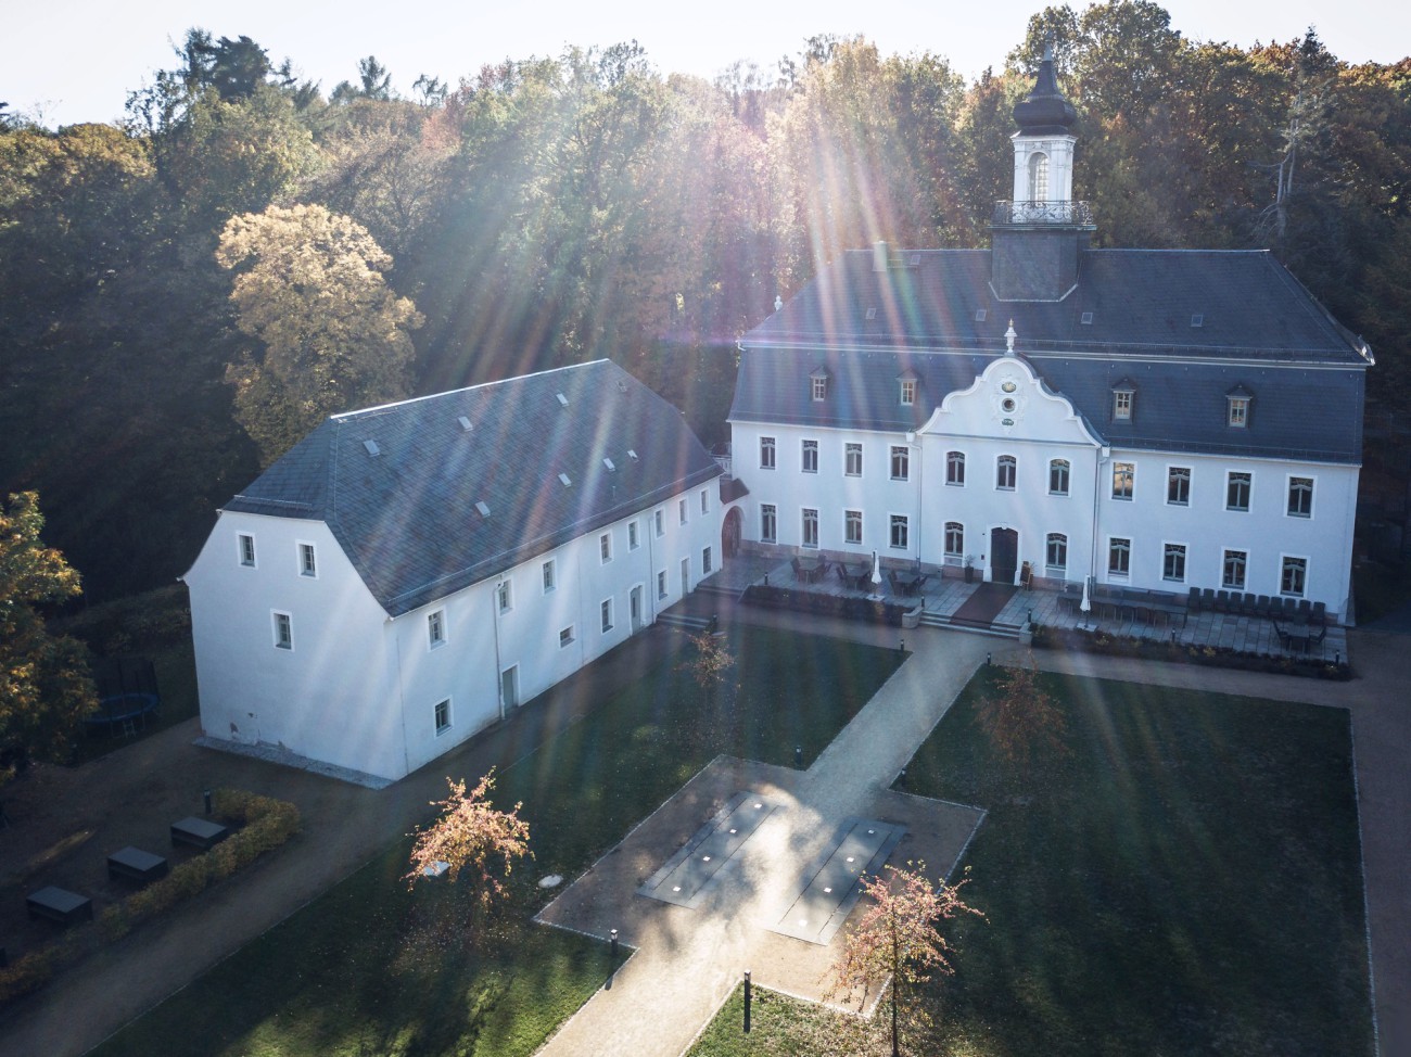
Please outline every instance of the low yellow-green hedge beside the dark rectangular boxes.
M103 943L120 940L133 926L200 895L209 885L244 869L299 831L299 809L285 800L238 789L217 789L212 807L217 817L240 828L203 855L176 865L166 876L104 907L93 924L78 926L13 965L0 968L0 1003L38 991L58 970Z

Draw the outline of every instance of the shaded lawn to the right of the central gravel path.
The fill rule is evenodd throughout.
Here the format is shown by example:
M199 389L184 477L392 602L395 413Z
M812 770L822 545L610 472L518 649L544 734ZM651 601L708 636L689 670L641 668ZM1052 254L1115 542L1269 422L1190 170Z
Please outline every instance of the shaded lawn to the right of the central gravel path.
M914 1051L1370 1056L1348 713L1046 677L1071 755L1019 775L975 727L993 675L907 766L989 809L964 889L988 922L951 923ZM831 1013L775 1012L780 1039L727 1008L693 1054L828 1051Z

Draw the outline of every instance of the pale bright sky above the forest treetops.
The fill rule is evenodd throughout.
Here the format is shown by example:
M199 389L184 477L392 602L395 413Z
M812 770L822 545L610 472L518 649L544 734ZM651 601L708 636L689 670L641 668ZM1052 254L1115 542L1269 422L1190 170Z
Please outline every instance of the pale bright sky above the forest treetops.
M357 61L375 55L392 86L411 95L430 73L454 86L484 64L562 54L567 45L636 40L663 73L713 78L735 61L773 72L809 37L864 35L883 55L934 52L974 78L999 69L1024 35L1029 17L1055 0L895 0L880 8L856 0L765 4L711 0L710 13L663 0L539 0L515 3L398 4L343 0L17 0L0 18L0 100L49 127L114 121L127 93L176 65L174 44L193 25L214 37L241 34L271 61L293 61L301 78L357 80ZM1071 0L1075 10L1086 4ZM706 4L703 4L703 8ZM1188 40L1288 41L1314 25L1348 62L1395 62L1411 54L1411 4L1403 0L1168 0L1171 27Z

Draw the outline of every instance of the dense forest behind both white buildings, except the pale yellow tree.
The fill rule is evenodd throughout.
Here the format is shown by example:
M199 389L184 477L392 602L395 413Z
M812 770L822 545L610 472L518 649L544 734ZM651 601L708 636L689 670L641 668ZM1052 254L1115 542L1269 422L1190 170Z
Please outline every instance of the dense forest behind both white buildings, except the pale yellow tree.
M214 260L233 217L271 207L365 229L396 260L385 303L426 319L408 339L404 316L380 382L337 367L327 402L289 397L309 415L610 356L722 440L734 342L776 295L878 238L986 243L1048 35L1098 244L1271 248L1376 350L1371 397L1404 404L1411 59L1352 66L1311 31L1197 42L1156 3L1112 0L1037 11L969 85L865 40L814 37L715 83L625 42L454 89L420 75L413 99L395 87L411 71L350 56L334 104L257 41L192 30L123 128L0 114L0 487L45 495L90 594L185 572L258 470L255 418L286 423L254 426L264 459L315 421L255 395L247 368L268 382L274 346L230 299L241 268Z

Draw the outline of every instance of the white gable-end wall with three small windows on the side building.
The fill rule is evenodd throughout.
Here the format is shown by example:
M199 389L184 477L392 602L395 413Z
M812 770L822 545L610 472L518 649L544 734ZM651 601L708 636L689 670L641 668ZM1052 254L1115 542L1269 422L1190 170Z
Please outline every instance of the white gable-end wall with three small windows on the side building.
M241 532L255 539L254 567L240 563ZM301 542L315 546L316 577L301 576ZM206 734L385 778L405 773L385 612L327 526L222 514L185 580ZM274 645L277 610L291 615L293 649Z

